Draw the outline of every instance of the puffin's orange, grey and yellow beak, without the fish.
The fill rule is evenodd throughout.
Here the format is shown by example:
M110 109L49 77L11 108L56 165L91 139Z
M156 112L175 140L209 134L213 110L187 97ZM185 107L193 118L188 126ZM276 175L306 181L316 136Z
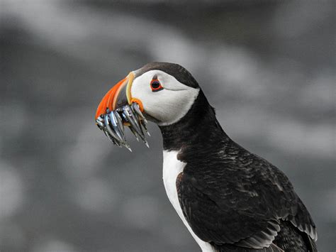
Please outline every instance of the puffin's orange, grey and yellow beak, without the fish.
M132 104L132 102L137 102L140 105L140 109L143 110L141 102L138 99L132 98L130 93L133 80L134 74L130 72L125 79L118 82L104 95L97 108L95 119L102 114L106 114L106 109L113 111L125 104Z

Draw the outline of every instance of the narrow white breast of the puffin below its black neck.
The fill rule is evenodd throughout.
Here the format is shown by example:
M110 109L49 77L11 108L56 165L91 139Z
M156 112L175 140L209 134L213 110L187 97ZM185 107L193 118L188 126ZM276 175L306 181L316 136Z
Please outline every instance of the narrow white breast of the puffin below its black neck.
M196 236L196 234L194 234L194 231L192 231L191 227L186 221L186 218L184 218L182 209L179 205L176 181L177 181L177 175L179 175L180 172L183 172L183 169L186 163L183 163L177 160L177 153L179 152L178 151L165 151L165 150L163 152L164 188L166 189L169 201L172 203L177 214L179 214L179 217L183 221L184 225L186 225L187 229L189 230L191 235L194 237L198 245L201 247L202 251L203 252L213 252L215 250L213 249L213 246L211 246L211 244L205 241L202 241L201 239L198 238L198 236Z

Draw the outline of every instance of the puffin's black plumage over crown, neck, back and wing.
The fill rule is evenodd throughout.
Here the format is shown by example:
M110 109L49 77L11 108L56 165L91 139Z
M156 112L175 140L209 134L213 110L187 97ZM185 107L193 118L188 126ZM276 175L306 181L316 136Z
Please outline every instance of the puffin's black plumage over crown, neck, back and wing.
M155 64L198 87L181 66ZM202 91L186 116L160 130L164 150L179 150L186 163L179 202L200 239L218 251L317 251L315 224L289 179L228 137Z

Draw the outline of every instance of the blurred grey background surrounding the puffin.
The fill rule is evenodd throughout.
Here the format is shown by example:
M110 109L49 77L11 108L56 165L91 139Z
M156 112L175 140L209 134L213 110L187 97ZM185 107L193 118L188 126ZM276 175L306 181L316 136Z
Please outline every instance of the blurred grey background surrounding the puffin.
M335 1L1 0L0 14L1 251L200 251L165 195L157 126L129 153L94 124L151 61L194 75L335 251Z

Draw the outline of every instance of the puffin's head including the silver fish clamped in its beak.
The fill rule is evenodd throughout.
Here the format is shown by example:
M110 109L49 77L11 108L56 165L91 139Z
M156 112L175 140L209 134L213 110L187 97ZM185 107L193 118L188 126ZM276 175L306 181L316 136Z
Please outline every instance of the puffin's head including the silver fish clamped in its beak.
M142 129L147 119L159 126L176 123L189 111L199 91L184 67L152 62L130 72L105 94L96 111L96 124L113 143L128 147L124 125L145 141Z

